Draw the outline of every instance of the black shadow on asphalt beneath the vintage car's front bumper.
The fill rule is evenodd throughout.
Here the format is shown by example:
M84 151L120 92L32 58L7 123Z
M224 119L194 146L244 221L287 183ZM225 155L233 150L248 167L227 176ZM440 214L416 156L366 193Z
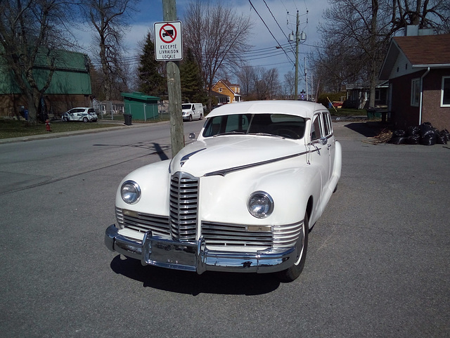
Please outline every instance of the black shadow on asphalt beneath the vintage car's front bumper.
M280 281L273 274L219 273L171 270L155 266L142 266L137 259L117 255L111 261L111 269L127 278L138 280L144 287L178 292L181 294L245 294L257 295L272 292Z

